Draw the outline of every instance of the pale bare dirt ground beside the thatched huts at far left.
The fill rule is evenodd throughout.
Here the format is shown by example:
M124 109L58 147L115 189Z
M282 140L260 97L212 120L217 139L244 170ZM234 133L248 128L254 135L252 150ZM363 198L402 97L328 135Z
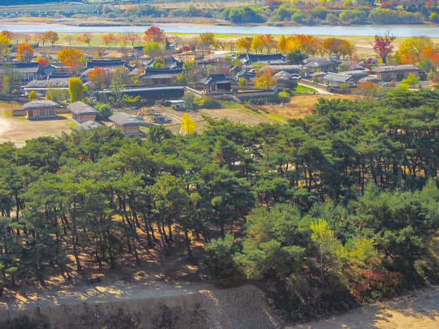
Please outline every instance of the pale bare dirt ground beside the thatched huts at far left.
M11 117L9 104L0 104L0 143L12 142L16 146L39 136L60 136L69 133L76 123L66 117L55 120L29 121L24 117ZM16 107L14 107L16 108Z

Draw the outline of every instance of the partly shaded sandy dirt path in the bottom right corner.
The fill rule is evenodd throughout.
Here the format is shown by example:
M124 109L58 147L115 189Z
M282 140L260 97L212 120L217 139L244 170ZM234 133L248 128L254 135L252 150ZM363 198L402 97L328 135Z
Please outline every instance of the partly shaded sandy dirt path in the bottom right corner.
M413 291L344 315L287 329L438 329L439 287Z

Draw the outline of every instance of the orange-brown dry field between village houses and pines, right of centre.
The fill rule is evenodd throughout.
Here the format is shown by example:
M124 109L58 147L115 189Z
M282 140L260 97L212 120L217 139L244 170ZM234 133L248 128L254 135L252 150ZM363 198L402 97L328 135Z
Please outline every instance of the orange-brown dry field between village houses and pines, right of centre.
M286 118L298 119L311 114L311 110L316 106L320 97L327 99L358 99L356 95L298 95L292 97L289 103L276 106L263 106L263 108L271 113Z

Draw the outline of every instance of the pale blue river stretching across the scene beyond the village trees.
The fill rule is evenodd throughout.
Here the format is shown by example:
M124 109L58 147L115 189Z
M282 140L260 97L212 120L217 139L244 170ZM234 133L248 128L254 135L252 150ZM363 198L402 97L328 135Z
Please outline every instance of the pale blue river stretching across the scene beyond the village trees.
M319 36L375 36L389 31L393 36L429 36L439 38L439 26L434 25L350 25L350 26L267 26L267 25L190 25L154 24L167 33L213 32L215 34L313 34ZM144 32L148 26L73 26L58 24L3 24L0 29L14 33L54 31L83 32Z

